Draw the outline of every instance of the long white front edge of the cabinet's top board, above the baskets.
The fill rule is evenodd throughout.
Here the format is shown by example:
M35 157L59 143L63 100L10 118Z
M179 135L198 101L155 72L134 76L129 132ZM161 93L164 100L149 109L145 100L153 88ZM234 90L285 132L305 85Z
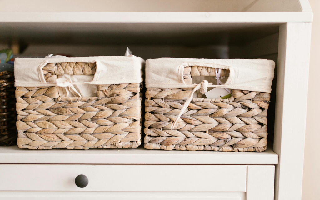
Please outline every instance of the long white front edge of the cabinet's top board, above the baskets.
M0 12L3 23L285 23L312 12Z

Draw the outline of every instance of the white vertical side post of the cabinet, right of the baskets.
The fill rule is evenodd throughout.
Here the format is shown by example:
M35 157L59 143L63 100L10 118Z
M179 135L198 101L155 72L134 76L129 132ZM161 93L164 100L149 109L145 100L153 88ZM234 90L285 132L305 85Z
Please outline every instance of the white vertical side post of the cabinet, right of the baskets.
M300 199L308 93L311 23L279 29L274 151L275 199Z

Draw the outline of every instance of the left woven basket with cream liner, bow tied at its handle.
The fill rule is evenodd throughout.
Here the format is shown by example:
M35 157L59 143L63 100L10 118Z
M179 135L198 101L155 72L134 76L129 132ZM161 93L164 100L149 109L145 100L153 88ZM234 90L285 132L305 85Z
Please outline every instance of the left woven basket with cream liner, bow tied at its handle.
M135 56L17 58L18 146L138 147L141 60ZM23 71L27 77L19 74Z

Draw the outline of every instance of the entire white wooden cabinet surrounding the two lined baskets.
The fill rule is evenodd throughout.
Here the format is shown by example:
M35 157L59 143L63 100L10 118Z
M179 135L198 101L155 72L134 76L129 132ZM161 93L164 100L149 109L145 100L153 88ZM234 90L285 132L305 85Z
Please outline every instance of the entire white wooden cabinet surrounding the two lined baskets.
M0 2L0 47L20 56L121 55L129 45L144 58L273 59L268 149L0 147L0 199L301 198L313 17L307 0L90 2ZM79 174L88 177L87 187L76 187Z

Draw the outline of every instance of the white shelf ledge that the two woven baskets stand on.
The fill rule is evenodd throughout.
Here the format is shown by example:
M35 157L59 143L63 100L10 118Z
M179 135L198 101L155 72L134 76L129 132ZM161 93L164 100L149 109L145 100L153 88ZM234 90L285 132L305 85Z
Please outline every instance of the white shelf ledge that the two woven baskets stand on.
M278 164L278 155L270 148L264 152L220 152L143 147L30 150L10 146L0 147L0 164Z

